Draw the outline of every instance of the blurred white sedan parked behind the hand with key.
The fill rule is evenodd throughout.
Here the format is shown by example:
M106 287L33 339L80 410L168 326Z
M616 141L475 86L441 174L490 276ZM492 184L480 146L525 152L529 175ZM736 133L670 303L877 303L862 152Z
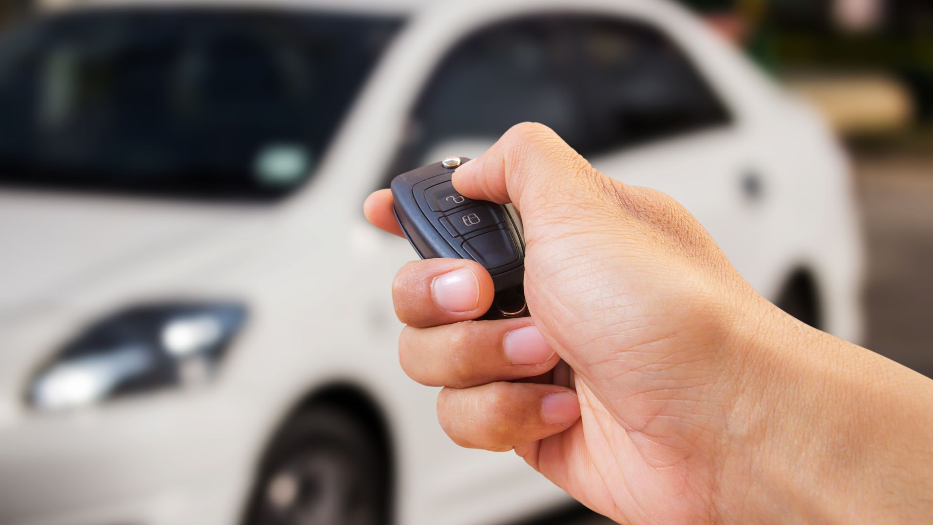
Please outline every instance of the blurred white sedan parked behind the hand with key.
M568 500L397 365L361 204L542 121L859 337L815 115L660 0L83 2L0 45L0 522L483 524Z

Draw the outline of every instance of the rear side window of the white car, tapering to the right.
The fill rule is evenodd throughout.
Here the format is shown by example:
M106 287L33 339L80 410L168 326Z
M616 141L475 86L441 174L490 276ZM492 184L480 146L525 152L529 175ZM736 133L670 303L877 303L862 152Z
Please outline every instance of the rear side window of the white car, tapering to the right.
M689 57L642 22L581 20L580 89L601 153L727 125L728 109Z

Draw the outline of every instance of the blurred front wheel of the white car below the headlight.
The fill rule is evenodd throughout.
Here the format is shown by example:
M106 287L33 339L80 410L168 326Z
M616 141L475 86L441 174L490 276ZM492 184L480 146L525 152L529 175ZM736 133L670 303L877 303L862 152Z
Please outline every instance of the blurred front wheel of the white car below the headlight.
M389 523L386 464L363 424L340 410L312 407L273 440L245 523Z

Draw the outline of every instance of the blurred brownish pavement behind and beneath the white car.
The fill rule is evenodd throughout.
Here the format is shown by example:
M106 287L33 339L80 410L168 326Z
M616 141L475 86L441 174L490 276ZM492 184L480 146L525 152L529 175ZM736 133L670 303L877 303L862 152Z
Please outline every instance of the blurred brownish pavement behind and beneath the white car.
M856 155L866 348L933 377L933 151ZM518 525L607 525L581 505Z

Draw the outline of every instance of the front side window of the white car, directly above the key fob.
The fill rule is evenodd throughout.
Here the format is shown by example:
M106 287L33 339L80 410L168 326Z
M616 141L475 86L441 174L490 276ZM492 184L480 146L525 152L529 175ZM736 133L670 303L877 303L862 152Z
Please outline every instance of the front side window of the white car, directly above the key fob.
M441 144L492 144L521 121L543 122L577 142L586 126L574 86L575 47L559 17L505 21L466 37L416 103L391 174L417 167Z

